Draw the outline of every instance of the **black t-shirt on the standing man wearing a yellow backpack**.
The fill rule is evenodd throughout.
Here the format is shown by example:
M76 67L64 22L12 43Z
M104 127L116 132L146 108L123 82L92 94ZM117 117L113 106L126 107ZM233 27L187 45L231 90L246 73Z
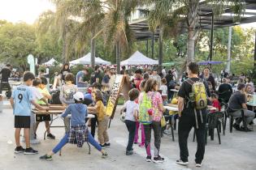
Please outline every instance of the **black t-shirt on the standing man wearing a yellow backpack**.
M200 79L199 78L191 78L191 80L193 82L197 82ZM206 87L207 96L210 96L210 90L209 90L208 84L206 83L206 81L203 81L203 83L205 84L205 87ZM191 93L191 92L192 92L192 85L189 84L187 81L184 81L181 84L180 90L178 92L178 96L184 98L184 110L193 109L191 103L189 102L189 93ZM189 102L189 104L188 104L188 102Z

